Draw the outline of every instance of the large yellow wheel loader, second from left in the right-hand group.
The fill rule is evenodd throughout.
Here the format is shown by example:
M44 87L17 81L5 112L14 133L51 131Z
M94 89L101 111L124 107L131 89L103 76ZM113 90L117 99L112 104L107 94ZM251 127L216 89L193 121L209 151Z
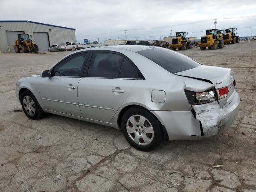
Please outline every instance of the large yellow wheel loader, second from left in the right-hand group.
M218 29L207 29L206 35L201 37L198 46L200 50L208 49L216 50L217 47L222 49L224 47L224 40L220 39L220 36L217 34Z

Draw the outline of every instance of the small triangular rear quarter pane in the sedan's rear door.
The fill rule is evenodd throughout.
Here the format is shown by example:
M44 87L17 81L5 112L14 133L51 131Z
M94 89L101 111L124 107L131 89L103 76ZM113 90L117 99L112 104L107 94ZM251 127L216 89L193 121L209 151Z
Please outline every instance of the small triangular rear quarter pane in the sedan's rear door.
M120 78L138 78L138 70L127 59L122 64Z

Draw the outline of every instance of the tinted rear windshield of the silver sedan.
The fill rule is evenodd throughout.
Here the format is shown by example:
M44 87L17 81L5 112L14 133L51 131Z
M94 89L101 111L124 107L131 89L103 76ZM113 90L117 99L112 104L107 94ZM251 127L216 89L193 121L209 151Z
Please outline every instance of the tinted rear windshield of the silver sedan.
M200 66L191 58L164 48L146 49L136 53L152 60L173 74Z

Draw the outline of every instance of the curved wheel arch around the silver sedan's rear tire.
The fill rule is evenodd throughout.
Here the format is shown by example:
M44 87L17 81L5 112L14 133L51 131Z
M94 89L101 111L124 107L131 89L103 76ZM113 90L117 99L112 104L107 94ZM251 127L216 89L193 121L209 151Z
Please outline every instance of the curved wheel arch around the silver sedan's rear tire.
M161 126L162 126L162 129L163 129L163 133L164 133L164 140L165 140L166 142L169 141L169 136L168 136L168 134L167 134L166 128L165 128L164 125L162 124L162 121L161 121L155 114L153 114L149 109L147 109L146 107L144 107L144 106L142 106L142 105L138 105L138 104L130 104L130 105L127 105L127 106L125 106L124 108L122 108L122 110L120 110L120 112L119 112L119 114L118 114L118 118L117 118L117 126L118 126L118 129L119 129L119 130L122 130L122 128L121 128L121 122L122 122L122 117L124 116L124 113L125 113L128 109L130 109L130 108L132 108L132 107L135 107L135 106L144 108L145 110L147 110L148 112L150 112L150 113L160 122L160 124L161 124Z

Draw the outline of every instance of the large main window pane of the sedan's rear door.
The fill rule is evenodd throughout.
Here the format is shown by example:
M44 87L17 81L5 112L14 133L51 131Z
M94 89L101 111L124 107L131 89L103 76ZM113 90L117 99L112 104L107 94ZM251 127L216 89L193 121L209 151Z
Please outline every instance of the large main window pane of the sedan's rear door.
M123 57L106 52L94 52L88 69L88 77L118 78Z

